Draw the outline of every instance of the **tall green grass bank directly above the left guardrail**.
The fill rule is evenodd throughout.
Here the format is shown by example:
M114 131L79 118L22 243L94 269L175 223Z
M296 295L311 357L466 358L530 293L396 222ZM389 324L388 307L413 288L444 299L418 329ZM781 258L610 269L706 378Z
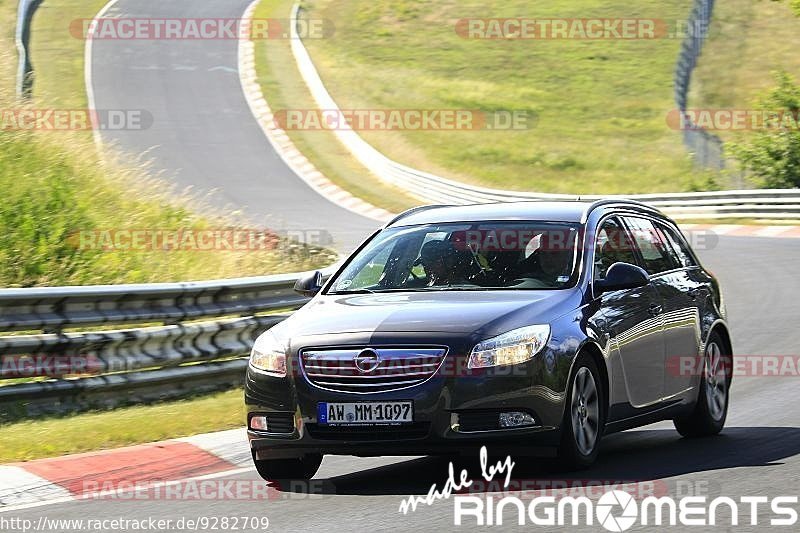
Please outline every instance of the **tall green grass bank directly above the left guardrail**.
M242 226L148 178L101 163L90 139L61 132L0 134L0 284L146 283L300 271L336 255L303 246L263 251L106 251L76 232ZM202 213L202 214L198 214Z

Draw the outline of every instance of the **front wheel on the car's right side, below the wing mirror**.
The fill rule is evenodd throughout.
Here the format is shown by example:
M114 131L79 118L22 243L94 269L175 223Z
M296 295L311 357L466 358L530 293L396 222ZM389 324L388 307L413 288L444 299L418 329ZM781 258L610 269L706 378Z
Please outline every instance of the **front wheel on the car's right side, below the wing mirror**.
M579 354L573 366L562 421L558 463L562 470L591 466L600 452L605 429L603 387L594 360Z

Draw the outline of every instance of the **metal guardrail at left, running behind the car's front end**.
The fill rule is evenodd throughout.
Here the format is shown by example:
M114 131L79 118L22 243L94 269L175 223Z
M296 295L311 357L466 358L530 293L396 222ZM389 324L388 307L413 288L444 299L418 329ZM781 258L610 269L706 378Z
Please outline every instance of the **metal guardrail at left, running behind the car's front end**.
M140 403L240 384L255 338L308 301L293 291L302 275L2 289L0 330L23 333L0 337L0 417ZM281 313L264 314L275 311ZM115 329L120 325L138 327ZM90 326L103 329L84 331ZM73 328L79 330L67 331ZM20 369L46 369L46 379L9 383L29 377Z

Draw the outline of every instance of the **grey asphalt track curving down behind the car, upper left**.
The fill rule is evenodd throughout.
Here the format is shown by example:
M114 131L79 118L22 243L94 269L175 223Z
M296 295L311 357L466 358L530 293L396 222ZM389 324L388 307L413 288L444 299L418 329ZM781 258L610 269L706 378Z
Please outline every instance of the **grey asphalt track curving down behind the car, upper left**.
M240 18L250 0L121 0L103 18ZM114 40L92 43L95 109L143 110L150 128L106 130L104 144L248 222L276 231L328 232L341 252L380 223L325 199L275 153L242 91L238 40Z

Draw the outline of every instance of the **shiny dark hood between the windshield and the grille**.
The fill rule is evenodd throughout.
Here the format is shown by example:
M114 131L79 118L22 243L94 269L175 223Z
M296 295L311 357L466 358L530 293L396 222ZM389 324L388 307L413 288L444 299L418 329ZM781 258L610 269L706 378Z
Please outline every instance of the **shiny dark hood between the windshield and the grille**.
M282 325L287 333L499 334L548 323L579 305L576 290L436 291L320 295Z

